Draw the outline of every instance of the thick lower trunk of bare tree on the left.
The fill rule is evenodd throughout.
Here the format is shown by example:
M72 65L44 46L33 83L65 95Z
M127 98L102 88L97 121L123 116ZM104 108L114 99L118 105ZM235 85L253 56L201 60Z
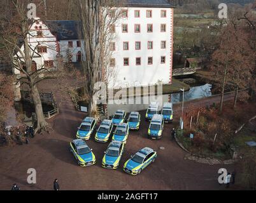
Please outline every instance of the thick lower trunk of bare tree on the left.
M31 87L31 96L34 101L34 108L36 110L36 120L38 124L36 131L46 131L46 129L49 127L49 124L45 121L45 117L43 116L43 107L38 92L38 87L36 85Z

